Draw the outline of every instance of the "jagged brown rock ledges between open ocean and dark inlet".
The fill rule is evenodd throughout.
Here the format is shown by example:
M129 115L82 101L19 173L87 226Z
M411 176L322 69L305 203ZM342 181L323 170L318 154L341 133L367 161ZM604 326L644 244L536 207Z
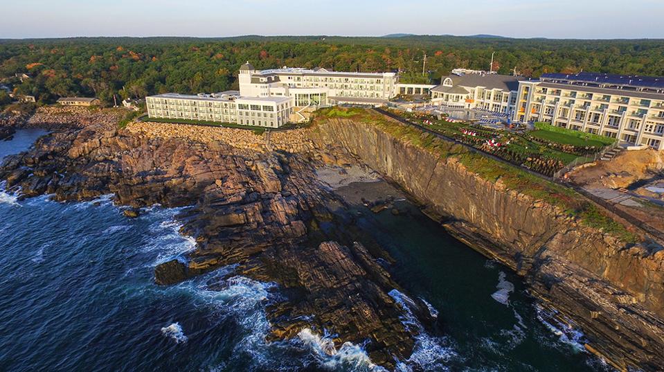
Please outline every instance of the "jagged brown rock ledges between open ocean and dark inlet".
M147 134L144 123L118 130L111 120L87 123L83 114L69 126L53 125L52 114L30 119L57 130L6 159L0 168L6 187L61 201L113 193L116 203L134 208L192 205L179 220L197 249L156 267L156 283L234 265L234 274L278 283L285 301L268 311L273 339L296 337L303 328L334 330L338 345L370 340L368 355L388 368L411 355L415 335L388 295L399 286L378 264L381 251L355 240L358 234L332 213L344 202L316 175L320 154L235 147L168 130ZM334 160L355 162L343 153ZM425 324L431 321L424 303L415 307Z

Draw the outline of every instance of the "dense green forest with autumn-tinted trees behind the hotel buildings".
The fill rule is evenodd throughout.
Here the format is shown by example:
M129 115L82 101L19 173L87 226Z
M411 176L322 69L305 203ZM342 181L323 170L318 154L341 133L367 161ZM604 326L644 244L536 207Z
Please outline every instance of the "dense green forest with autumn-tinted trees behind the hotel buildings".
M555 40L505 37L99 37L0 40L0 79L15 94L53 103L60 96L139 98L175 91L237 89L237 71L325 67L400 71L404 82L438 82L456 67L537 77L580 70L664 76L664 40ZM426 72L422 73L424 55ZM15 73L28 73L21 82ZM0 91L0 105L8 101Z

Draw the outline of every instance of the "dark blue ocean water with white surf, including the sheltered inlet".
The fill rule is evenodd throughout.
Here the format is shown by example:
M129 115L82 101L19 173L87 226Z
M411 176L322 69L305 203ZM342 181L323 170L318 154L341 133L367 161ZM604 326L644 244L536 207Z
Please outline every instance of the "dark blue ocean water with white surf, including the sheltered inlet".
M0 158L44 134L19 130ZM1 187L2 185L0 185ZM222 267L172 286L154 267L195 246L179 234L183 209L153 206L128 219L107 195L90 202L19 200L0 192L1 371L379 371L363 345L334 348L304 329L267 342L276 283ZM410 297L439 327L418 336L399 371L609 371L557 324L521 280L449 236L407 200L402 211L354 207L357 224L397 260L402 321L422 329ZM330 330L332 333L333 330Z

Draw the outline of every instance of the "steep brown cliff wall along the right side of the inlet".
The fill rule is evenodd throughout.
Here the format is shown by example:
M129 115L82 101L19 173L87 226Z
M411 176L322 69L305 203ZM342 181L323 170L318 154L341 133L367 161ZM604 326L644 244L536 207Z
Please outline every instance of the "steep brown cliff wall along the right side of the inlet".
M329 151L341 147L357 155L458 238L525 276L532 293L584 330L589 351L622 370L661 371L661 247L625 243L544 197L514 191L500 174L469 170L458 145L397 122L389 125L398 129L385 130L374 121L328 118L314 132Z

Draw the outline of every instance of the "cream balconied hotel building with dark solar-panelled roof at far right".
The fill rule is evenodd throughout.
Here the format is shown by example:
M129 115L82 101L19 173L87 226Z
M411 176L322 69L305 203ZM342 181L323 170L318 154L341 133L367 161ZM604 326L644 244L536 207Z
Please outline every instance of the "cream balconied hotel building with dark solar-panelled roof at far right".
M664 150L664 78L545 73L519 82L513 120L543 121Z

